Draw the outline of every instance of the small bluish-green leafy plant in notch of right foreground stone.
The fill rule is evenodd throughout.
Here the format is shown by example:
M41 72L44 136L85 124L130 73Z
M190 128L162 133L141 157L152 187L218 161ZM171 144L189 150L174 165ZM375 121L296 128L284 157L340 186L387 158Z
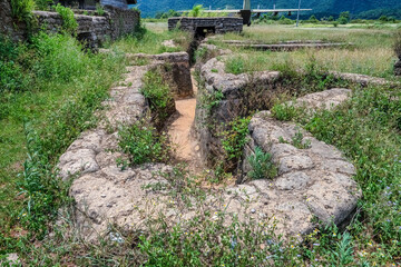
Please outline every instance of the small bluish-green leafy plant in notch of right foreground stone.
M272 155L264 152L260 147L255 148L255 154L247 160L252 167L251 179L272 179L277 176L277 168L272 160Z

